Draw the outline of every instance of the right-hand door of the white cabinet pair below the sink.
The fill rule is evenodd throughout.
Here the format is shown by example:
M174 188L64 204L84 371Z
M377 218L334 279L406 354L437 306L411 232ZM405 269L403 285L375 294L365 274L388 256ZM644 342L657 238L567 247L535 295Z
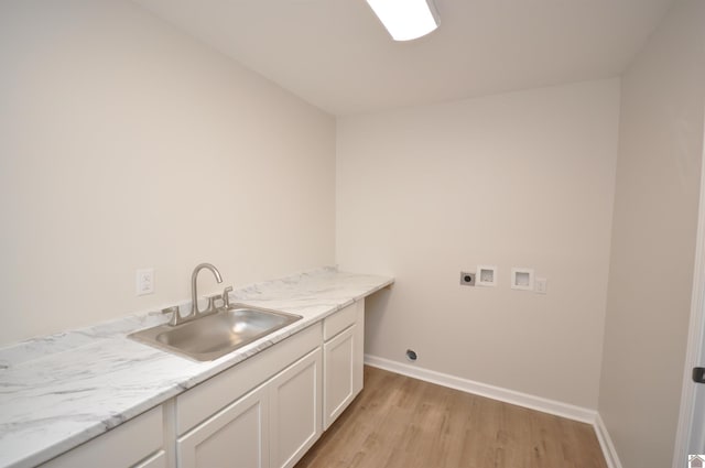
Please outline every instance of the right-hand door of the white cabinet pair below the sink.
M321 436L321 355L316 348L269 383L272 468L293 467Z

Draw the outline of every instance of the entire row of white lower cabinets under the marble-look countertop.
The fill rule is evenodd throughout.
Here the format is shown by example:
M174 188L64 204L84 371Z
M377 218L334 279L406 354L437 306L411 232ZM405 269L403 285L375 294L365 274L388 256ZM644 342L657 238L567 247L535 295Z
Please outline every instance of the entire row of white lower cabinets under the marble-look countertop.
M291 468L362 390L358 301L43 468Z

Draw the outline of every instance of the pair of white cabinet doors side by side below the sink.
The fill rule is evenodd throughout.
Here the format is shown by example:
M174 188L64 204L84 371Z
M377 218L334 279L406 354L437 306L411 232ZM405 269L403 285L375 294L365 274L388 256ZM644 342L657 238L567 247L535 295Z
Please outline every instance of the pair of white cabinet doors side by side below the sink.
M178 438L181 468L289 468L321 436L321 348Z

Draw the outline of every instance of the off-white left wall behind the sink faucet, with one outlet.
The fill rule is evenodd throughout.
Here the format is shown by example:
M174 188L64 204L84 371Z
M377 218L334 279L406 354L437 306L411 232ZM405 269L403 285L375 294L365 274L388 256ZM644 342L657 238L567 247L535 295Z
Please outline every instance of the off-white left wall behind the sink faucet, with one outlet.
M330 116L129 1L2 1L0 63L0 344L334 262Z

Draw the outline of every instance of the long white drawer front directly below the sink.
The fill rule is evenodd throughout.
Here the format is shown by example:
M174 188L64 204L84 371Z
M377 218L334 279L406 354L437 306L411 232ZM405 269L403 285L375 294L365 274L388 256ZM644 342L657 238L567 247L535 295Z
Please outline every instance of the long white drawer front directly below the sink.
M176 433L184 434L318 346L321 323L176 396Z

